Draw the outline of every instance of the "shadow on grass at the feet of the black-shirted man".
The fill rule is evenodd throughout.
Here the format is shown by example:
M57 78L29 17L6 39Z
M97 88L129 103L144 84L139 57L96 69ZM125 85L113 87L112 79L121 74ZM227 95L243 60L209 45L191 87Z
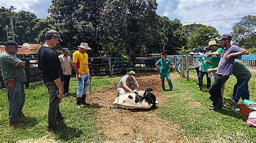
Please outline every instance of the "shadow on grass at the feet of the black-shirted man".
M63 130L54 131L53 133L56 135L57 140L61 141L71 141L74 138L79 138L82 135L83 131L78 130L78 128L73 128L66 126L64 123L60 123L60 126L64 127Z

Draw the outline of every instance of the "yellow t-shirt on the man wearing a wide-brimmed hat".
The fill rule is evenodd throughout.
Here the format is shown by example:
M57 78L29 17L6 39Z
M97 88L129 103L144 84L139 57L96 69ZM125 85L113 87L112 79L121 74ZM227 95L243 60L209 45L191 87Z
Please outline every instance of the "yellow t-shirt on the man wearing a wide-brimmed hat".
M81 53L79 51L74 52L73 63L76 63L80 74L87 74L89 72L87 53Z

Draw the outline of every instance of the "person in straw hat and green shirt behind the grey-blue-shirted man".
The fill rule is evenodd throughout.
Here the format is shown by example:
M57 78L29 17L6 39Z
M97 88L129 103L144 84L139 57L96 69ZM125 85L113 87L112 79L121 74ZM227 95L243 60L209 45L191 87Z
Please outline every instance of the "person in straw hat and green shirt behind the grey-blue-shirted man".
M210 47L211 51L205 53L206 58L209 58L212 55L219 56L223 52L223 49L217 46L217 43L215 40L210 40L210 42L208 43L208 47ZM212 57L212 68L214 69L215 67L218 67L219 62L220 62L220 57ZM214 82L215 73L216 72L212 72L213 82Z

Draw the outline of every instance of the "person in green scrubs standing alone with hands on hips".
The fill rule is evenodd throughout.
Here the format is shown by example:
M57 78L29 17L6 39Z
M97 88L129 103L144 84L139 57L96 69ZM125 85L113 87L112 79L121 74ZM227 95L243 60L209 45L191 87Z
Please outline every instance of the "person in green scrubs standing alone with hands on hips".
M164 85L165 78L167 79L170 90L174 91L170 74L169 74L173 64L169 58L166 58L166 54L164 52L160 53L160 58L161 59L157 61L156 66L160 69L160 78L161 78L161 85L162 85L161 91L165 91L165 85Z

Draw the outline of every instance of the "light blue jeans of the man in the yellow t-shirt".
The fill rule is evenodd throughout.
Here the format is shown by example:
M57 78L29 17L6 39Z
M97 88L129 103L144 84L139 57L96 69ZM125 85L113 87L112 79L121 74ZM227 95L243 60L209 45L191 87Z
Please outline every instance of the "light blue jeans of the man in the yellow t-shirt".
M88 72L87 74L81 74L82 80L78 80L77 78L77 97L82 98L83 94L86 94L86 88L89 84L89 79L90 79L90 73Z

